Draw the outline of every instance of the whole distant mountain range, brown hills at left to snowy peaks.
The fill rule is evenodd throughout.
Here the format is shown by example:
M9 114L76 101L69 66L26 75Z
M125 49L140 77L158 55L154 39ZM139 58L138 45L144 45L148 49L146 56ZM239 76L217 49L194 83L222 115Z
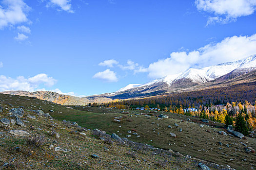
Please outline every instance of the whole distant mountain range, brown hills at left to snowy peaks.
M145 84L130 84L114 93L105 93L83 98L48 91L5 91L0 93L37 97L42 100L64 105L84 105L88 102L100 103L111 102L116 99L151 97L255 81L256 55L251 55L244 60L199 69L189 68L179 74L167 75Z

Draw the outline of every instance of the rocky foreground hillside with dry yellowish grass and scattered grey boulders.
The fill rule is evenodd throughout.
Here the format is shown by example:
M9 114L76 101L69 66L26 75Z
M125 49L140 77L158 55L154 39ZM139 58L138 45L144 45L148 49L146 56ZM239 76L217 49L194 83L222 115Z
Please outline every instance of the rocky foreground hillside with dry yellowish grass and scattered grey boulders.
M99 114L68 108L52 102L5 94L0 94L0 106L1 169L197 170L200 169L199 165L201 167L206 165L211 170L227 168L226 165L217 165L201 160L205 159L204 156L198 159L188 155L183 156L177 151L166 151L150 145L132 142L127 138L118 138L118 136L112 138L103 132L103 130L107 132L115 131L111 126L108 128L98 124L98 128L102 129L101 131L90 130L87 128L91 127L91 125L85 125L87 123L82 123L82 120L85 119L78 117L78 115L87 117L94 115L103 117L107 115L114 117L117 115L114 112L118 110L113 111L112 114ZM16 109L19 107L23 109ZM53 119L47 114L48 110L51 110L49 113ZM86 107L86 110L90 110L90 108ZM9 112L12 114L9 114ZM67 121L62 121L61 117L65 117ZM7 121L7 119L11 120L11 122ZM14 119L17 120L16 123ZM73 122L74 119L79 120L78 124ZM94 120L91 119L89 121ZM172 119L172 121L177 120ZM115 126L119 125L116 124ZM121 125L125 124L121 123ZM94 126L97 125L94 124ZM204 130L201 131L201 133L203 132ZM137 137L137 140L138 138L144 138L139 129L138 133L141 137ZM219 137L222 138L221 136ZM132 138L134 139L134 137ZM168 138L171 139L172 143L175 142L173 140L176 140L176 138L172 139L170 136ZM228 140L233 141L233 139ZM247 142L253 143L251 139L248 139ZM241 165L248 166L252 158L248 154L246 157L248 162Z

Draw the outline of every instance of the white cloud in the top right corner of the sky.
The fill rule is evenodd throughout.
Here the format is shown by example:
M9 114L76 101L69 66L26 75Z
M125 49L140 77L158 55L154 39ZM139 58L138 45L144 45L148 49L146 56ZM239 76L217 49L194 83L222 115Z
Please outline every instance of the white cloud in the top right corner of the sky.
M195 4L199 11L214 13L215 17L209 17L207 25L229 23L256 11L256 0L196 0Z

